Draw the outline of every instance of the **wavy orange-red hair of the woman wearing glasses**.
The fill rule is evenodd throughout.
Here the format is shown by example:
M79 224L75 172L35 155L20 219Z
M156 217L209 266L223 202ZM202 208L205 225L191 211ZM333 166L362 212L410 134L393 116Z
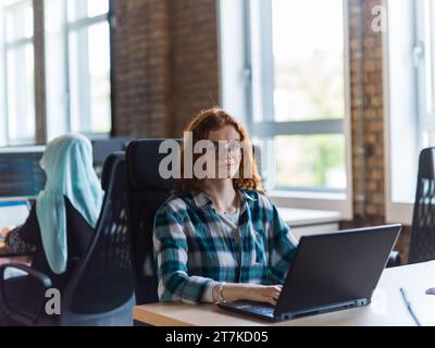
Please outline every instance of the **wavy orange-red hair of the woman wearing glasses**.
M237 122L234 116L219 108L209 109L200 112L190 122L185 132L191 133L192 144L195 147L197 141L209 139L210 132L219 130L226 125L232 125L238 132L240 135L240 141L244 144L238 177L233 179L234 187L263 192L261 177L258 173L257 161L253 157L251 140L244 126ZM201 154L194 154L194 163L200 156ZM181 163L182 173L184 173L184 147L182 149ZM245 175L245 169L250 172L246 173L248 175ZM195 175L192 178L184 178L182 175L182 178L175 184L175 195L190 192L197 189L201 190L203 189L203 179L196 178Z

